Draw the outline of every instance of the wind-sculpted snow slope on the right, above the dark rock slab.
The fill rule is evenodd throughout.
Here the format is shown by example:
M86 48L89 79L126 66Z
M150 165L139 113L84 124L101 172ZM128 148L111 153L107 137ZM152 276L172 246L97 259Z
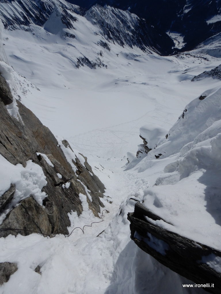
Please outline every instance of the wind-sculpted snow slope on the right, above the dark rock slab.
M157 162L164 166L155 186L144 191L144 205L173 225L156 224L218 250L220 95L221 88L214 88L190 102L165 140L136 166L143 173Z

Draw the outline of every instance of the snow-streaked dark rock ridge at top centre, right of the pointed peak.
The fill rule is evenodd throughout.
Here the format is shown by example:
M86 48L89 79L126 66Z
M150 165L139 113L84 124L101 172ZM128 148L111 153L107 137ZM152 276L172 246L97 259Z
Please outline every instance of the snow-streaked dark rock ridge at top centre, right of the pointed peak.
M159 54L172 53L173 41L167 35L161 35L146 20L129 11L95 5L86 12L85 17L99 26L108 41L122 47L136 46L147 52L152 49Z

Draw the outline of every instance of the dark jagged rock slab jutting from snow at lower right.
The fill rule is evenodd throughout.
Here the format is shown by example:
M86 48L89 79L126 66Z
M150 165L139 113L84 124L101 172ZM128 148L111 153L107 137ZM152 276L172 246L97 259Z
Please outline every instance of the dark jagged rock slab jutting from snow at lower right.
M153 225L144 216L153 220L161 219L142 204L135 204L134 212L128 213L128 220L131 223L131 239L138 247L194 283L209 283L210 287L203 289L219 294L221 273L203 263L202 257L221 257L221 251ZM211 287L212 284L214 287Z

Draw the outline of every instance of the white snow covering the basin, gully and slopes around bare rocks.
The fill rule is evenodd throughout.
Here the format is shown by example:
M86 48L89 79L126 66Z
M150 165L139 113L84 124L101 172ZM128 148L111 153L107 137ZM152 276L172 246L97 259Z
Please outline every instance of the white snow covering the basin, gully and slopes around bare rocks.
M6 3L4 9L7 11ZM88 209L90 191L85 189L87 195L79 195L83 213L78 217L70 212L68 228L71 232L99 222L85 227L84 234L76 229L68 238L37 234L0 238L0 262L18 263L17 272L0 286L0 292L205 293L183 288L183 283L192 282L159 264L130 240L127 213L134 210L135 201L130 198L144 200L173 226L163 221L153 221L155 224L221 250L220 81L191 82L195 75L220 64L218 37L178 56L146 54L107 41L109 51L98 44L105 39L96 24L73 16L78 19L72 30L75 39L64 38L61 27L61 33L52 31L48 22L49 31L36 25L29 31L3 30L2 40L22 102L59 138L74 170L72 160L79 152L88 157L93 172L105 184L102 201L110 213L103 211L104 220L99 222L102 218L95 218ZM77 69L77 58L83 56L91 61L100 56L107 68L84 64ZM199 100L204 94L207 97ZM133 158L142 143L139 133L144 125L154 147L159 145L125 166L127 153ZM162 129L167 130L167 139ZM65 148L63 138L74 152ZM162 156L156 159L158 154ZM47 184L41 168L31 161L24 168L0 160L1 194L15 183L16 201L34 193L41 203L45 197L41 189ZM83 157L80 161L84 162ZM152 239L155 248L162 245L157 242ZM215 262L219 267L220 260ZM34 271L37 265L41 275Z

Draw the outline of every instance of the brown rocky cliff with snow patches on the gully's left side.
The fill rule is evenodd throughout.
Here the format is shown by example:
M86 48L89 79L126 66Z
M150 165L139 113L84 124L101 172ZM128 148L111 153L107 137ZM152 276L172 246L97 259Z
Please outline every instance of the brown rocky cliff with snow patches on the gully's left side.
M0 236L28 235L32 233L30 230L44 235L67 234L70 226L67 213L76 211L79 216L83 211L79 194L87 197L89 209L98 217L100 207L104 206L100 198L105 187L93 173L87 158L80 154L80 159L77 158L66 140L58 143L51 131L19 101L18 118L13 118L5 106L11 101L10 89L0 76L0 156L12 170L21 167L24 183L28 178L36 186L37 174L33 171L36 165L44 174L41 181L46 180L47 184L42 184L39 198L36 189L21 188L21 181L6 178L11 184L0 197L3 220Z

